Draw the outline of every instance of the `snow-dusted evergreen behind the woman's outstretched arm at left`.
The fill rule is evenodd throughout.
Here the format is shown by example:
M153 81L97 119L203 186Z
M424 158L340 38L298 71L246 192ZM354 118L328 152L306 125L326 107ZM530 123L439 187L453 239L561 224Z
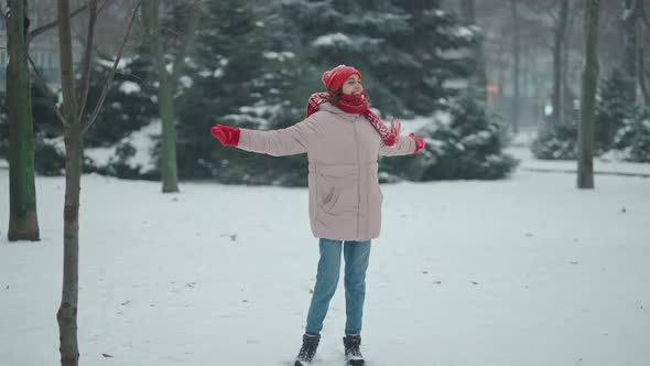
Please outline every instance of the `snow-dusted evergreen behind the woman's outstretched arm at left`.
M270 26L279 26L279 20L254 12L242 0L205 6L186 69L192 87L180 96L181 175L215 176L225 183L304 185L304 172L293 169L304 157L251 154L220 147L209 136L215 123L267 130L293 125L300 117L286 94L297 78L288 66L295 62L295 54L282 51L278 29Z

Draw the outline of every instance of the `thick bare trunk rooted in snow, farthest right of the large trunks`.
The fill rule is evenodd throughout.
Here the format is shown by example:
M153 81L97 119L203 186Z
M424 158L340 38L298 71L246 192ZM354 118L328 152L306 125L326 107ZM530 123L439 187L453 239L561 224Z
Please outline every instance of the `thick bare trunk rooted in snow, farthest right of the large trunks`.
M587 0L585 7L585 68L578 129L577 186L594 187L594 112L598 83L598 13L600 1Z

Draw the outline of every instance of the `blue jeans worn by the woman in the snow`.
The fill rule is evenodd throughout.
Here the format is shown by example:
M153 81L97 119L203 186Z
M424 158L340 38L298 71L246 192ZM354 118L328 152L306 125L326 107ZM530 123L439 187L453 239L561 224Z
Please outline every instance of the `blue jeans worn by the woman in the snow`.
M345 334L360 334L366 299L366 269L370 259L370 240L344 241L321 239L321 259L316 286L307 314L306 333L321 334L329 301L336 292L340 271L340 249L345 258Z

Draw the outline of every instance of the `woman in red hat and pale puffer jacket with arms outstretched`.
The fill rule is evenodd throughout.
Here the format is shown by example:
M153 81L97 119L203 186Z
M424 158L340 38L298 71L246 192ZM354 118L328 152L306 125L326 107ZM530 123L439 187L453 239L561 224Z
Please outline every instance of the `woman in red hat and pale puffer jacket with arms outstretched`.
M424 140L399 136L400 122L387 128L368 109L361 74L339 65L323 74L327 93L312 95L306 118L289 128L257 131L216 125L212 133L224 146L274 157L307 153L310 219L319 238L316 286L296 366L312 362L323 321L336 291L340 254L345 258L346 326L343 338L348 365L364 365L359 351L370 241L379 236L382 194L378 155L416 153Z

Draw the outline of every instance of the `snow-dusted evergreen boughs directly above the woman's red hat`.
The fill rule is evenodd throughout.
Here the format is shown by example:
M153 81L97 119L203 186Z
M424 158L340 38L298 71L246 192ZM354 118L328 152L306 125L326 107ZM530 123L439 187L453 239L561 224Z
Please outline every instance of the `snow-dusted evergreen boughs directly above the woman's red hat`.
M295 19L313 65L321 72L357 67L373 106L401 117L427 115L447 103L453 90L445 80L466 76L470 64L445 54L478 36L441 10L440 1L291 0L285 13Z

